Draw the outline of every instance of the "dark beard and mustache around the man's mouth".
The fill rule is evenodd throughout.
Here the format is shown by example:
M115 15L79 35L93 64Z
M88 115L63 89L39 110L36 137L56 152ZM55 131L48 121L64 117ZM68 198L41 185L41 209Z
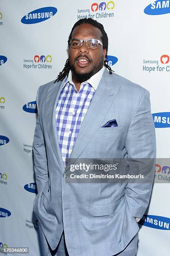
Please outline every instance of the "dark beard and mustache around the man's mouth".
M78 59L79 57L86 57L87 59L89 59L86 55L83 56L78 56L76 59ZM74 60L74 63L76 62L76 59ZM101 56L97 61L96 64L93 64L92 60L89 59L89 61L92 63L91 65L91 70L89 72L77 72L76 68L74 66L74 64L71 63L70 61L70 57L69 57L69 66L71 69L71 72L73 74L74 79L76 79L77 82L84 82L89 80L90 77L92 77L94 74L96 74L97 72L99 72L99 70L103 67L104 65L104 60L103 60L103 56Z

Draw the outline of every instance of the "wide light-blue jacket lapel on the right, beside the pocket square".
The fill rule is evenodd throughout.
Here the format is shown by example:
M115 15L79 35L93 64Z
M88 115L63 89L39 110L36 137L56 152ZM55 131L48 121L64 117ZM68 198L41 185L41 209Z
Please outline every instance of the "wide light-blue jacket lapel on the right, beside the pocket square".
M119 88L120 86L117 85L114 74L110 75L107 69L105 69L84 120L81 123L81 128L70 158L67 161L65 172L69 169L70 165L76 161L91 141L104 116L112 105Z

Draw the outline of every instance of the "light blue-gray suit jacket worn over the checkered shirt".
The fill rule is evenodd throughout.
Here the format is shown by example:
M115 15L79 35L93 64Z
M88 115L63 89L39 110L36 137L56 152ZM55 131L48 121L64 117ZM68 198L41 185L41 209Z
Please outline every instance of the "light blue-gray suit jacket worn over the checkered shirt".
M64 228L71 256L114 255L139 230L135 217L145 213L152 184L67 183L63 174L79 158L155 158L149 92L105 69L65 168L55 120L63 82L53 82L37 94L33 153L38 195L33 209L53 250ZM117 127L101 128L114 118ZM154 177L154 168L151 172Z

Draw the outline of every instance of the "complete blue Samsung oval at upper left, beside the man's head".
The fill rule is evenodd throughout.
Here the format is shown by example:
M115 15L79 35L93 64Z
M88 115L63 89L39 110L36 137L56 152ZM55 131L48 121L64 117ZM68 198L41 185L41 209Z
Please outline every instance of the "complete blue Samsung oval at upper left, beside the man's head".
M21 22L24 24L39 23L53 17L53 15L55 15L56 12L57 12L57 8L55 7L39 8L23 16L23 18L21 19Z

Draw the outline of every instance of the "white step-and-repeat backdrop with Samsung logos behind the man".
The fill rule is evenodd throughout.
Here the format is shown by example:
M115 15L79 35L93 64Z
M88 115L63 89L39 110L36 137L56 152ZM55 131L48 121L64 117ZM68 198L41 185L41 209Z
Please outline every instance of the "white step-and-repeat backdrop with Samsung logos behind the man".
M150 91L157 163L150 206L140 221L137 256L168 256L169 0L0 0L0 251L29 247L31 256L41 256L33 213L36 94L63 69L71 28L81 18L103 24L114 72Z

